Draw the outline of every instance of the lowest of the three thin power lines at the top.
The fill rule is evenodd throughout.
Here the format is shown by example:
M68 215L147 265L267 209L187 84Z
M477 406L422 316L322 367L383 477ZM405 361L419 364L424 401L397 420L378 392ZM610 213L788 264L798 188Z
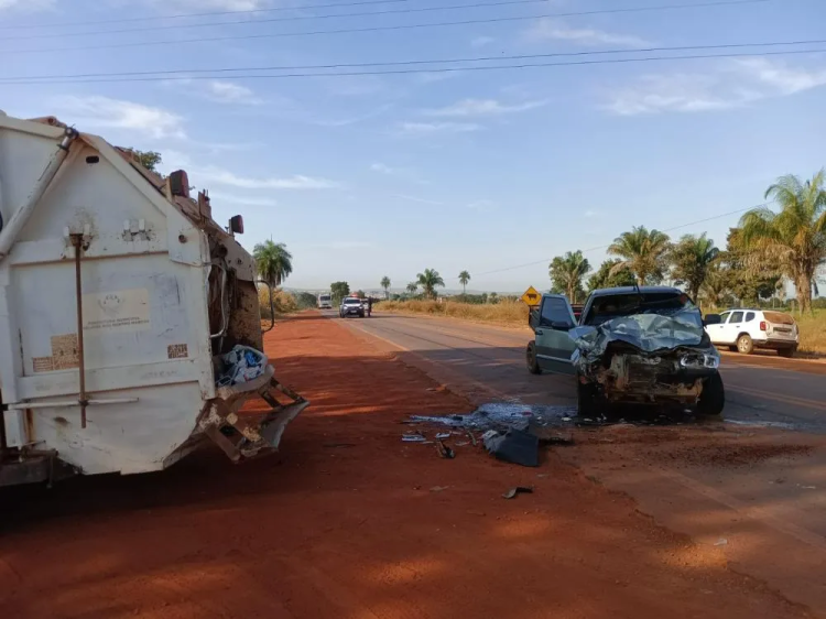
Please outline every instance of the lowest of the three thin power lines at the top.
M641 13L651 11L669 11L680 9L699 9L699 8L711 8L711 7L725 7L725 6L740 6L740 4L754 4L763 2L773 2L775 0L715 0L711 2L700 2L692 4L660 4L654 7L629 7L624 9L600 9L594 11L575 11L565 13L541 13L537 15L511 15L500 18L485 18L485 19L472 19L472 20L457 20L452 22L430 22L430 23L414 23L414 24L398 24L398 25L376 25L366 28L344 28L335 30L312 30L312 31L300 31L300 32L274 32L263 34L243 34L243 35L229 35L229 36L208 36L198 39L167 39L163 41L139 41L131 43L109 43L105 45L83 45L75 47L44 47L41 50L6 50L2 51L4 54L34 54L44 52L77 52L77 51L90 51L90 50L115 50L124 47L145 47L145 46L159 46L159 45L177 45L187 43L216 43L220 41L250 41L256 39L281 39L281 37L293 37L293 36L315 36L322 34L357 34L363 32L389 32L389 31L402 31L402 30L419 30L424 28L446 28L456 25L474 25L474 24L487 24L487 23L504 23L504 22L518 22L518 21L530 21L546 18L569 18L569 17L584 17L584 15L598 15L609 13Z

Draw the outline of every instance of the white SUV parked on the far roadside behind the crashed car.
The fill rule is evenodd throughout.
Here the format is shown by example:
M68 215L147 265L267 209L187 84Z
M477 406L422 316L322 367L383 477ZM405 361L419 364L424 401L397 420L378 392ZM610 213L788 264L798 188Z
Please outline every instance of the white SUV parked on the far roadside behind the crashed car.
M781 357L792 357L800 344L794 318L770 310L729 310L720 314L719 324L707 325L706 333L713 344L743 355L754 348L769 348Z

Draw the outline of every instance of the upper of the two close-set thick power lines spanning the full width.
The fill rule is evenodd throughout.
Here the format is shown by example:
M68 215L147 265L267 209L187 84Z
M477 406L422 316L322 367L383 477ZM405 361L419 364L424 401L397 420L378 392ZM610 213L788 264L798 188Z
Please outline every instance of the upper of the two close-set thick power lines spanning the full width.
M430 65L430 64L457 64L457 63L480 63L480 62L501 62L501 61L521 61L534 58L553 58L553 57L575 57L575 56L595 56L609 54L642 54L653 52L689 52L699 50L731 50L743 47L779 47L792 45L818 45L826 43L826 39L816 39L807 41L769 41L762 43L720 43L715 45L681 45L672 47L643 47L638 50L601 50L586 52L552 52L547 54L518 54L518 55L497 55L497 56L474 56L464 58L432 58L432 59L411 59L411 61L384 61L369 63L335 63L327 65L275 65L262 67L218 67L218 68L177 68L161 70L133 70L133 72L111 72L111 73L77 73L69 75L29 75L19 77L0 77L0 83L17 79L74 79L85 77L133 77L150 75L173 75L187 74L188 79L192 74L219 74L219 73L239 73L239 72L259 72L259 70L323 70L334 68L365 68L381 66L411 66L411 65ZM210 76L213 77L213 76Z

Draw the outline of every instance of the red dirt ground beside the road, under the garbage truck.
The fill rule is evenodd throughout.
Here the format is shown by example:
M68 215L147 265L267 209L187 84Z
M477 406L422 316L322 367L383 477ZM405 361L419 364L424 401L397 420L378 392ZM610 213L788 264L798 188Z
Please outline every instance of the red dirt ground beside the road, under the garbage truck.
M407 415L470 404L337 322L304 315L267 345L313 402L280 457L233 467L210 449L161 474L3 490L19 509L0 520L2 616L812 616L563 449L532 469L403 444ZM515 485L534 493L502 499Z

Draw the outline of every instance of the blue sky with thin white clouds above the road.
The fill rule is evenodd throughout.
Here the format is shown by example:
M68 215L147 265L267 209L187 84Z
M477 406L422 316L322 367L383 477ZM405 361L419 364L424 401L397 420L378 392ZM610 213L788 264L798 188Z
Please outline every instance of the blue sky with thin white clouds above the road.
M415 30L72 50L650 7L548 0L422 13L267 22L482 0L0 0L0 76L373 63L823 39L826 3L774 0ZM483 0L489 1L489 0ZM700 0L693 0L699 2ZM295 8L165 21L163 15ZM159 18L84 26L59 22ZM187 29L210 22L241 25ZM174 25L171 30L112 32ZM66 34L86 32L83 36ZM48 35L42 39L25 39ZM826 50L826 44L780 50ZM45 50L45 51L44 51ZM700 52L713 53L713 52ZM613 56L633 57L628 53ZM656 54L648 54L656 55ZM588 57L593 59L594 57ZM556 58L565 61L565 58ZM542 62L542 61L531 61ZM350 69L352 70L352 69ZM363 70L363 69L361 69ZM378 69L381 70L381 69ZM287 72L306 73L306 72ZM194 75L194 74L192 74ZM287 285L403 287L425 268L449 287L547 287L547 261L633 225L670 229L762 202L779 175L826 165L826 53L450 74L124 83L0 83L0 109L55 115L118 145L160 151L244 216L249 249L294 254ZM200 74L203 75L203 74ZM671 232L725 243L730 215ZM594 267L601 249L587 254ZM489 271L536 264L485 274Z

